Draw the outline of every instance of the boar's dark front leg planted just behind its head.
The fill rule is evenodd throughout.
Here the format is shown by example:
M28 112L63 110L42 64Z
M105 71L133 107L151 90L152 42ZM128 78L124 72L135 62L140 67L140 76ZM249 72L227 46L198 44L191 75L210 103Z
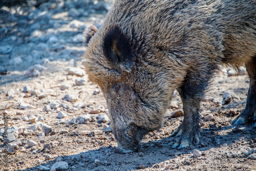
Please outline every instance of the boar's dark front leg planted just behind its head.
M192 142L199 142L200 136L200 101L212 77L213 70L196 71L187 75L182 86L178 89L183 102L184 119L171 136L180 136L173 145L174 148L184 148ZM194 74L194 75L193 75ZM202 74L202 75L200 75Z

